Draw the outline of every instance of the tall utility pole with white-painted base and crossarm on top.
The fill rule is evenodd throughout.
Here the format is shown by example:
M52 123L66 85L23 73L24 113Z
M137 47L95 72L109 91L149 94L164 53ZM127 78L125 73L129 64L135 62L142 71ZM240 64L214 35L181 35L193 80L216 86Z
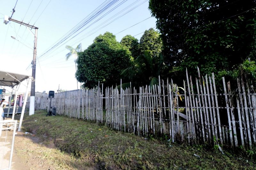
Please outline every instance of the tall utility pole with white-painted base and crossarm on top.
M4 23L7 24L8 22L7 16L4 16ZM36 81L36 45L37 45L37 30L38 27L34 25L26 24L22 21L18 21L16 19L12 19L8 17L8 21L13 21L21 25L25 25L29 28L35 29L35 40L34 40L34 52L33 52L33 60L32 60L32 81L31 81L31 90L30 90L30 102L29 102L29 115L34 115L35 112L35 81Z

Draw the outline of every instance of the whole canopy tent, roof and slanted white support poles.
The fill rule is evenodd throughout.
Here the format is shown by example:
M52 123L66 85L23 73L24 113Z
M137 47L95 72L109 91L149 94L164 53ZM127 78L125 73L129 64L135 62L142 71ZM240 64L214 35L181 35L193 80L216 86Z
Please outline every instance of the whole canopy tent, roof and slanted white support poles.
M28 79L28 81L26 83L22 82L26 79ZM16 107L19 85L24 85L26 87L26 94L25 94L24 104L22 106L22 111L21 111L21 115L20 115L20 123L19 123L18 131L20 131L25 108L26 108L26 103L27 103L27 99L28 99L28 89L29 89L28 86L30 84L30 81L31 81L31 76L17 74L17 73L10 73L10 72L6 72L6 71L0 71L0 86L2 88L3 88L3 86L10 87L10 88L12 88L12 90L15 91L13 108ZM15 86L16 86L16 88L14 89ZM12 92L11 92L11 96L12 96ZM10 102L11 102L11 97L10 97L9 103ZM9 107L9 109L10 109L10 107ZM9 116L9 109L8 109L8 116ZM15 109L13 109L13 112L12 112L12 120L14 120L14 114L15 114ZM1 113L1 115L2 115L2 113Z

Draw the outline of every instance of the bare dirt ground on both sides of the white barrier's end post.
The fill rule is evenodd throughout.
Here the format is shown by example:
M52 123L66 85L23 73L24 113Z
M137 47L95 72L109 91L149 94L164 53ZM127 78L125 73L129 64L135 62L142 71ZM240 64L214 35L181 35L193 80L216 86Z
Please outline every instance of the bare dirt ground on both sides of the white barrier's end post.
M0 137L0 169L8 168L13 131L2 131ZM52 158L52 153L60 152L54 146L52 138L47 138L47 143L34 134L25 134L23 131L16 131L15 143L12 156L12 170L53 170L53 169L75 169L65 163L69 160L67 154L63 158ZM51 157L50 157L51 156ZM56 160L54 160L56 159ZM62 161L59 166L52 162ZM63 166L62 164L65 164Z

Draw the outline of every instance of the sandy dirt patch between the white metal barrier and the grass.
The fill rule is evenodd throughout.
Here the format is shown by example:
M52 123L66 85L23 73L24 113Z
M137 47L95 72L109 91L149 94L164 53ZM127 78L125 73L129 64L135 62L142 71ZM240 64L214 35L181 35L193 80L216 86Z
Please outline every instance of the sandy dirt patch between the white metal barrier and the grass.
M45 138L48 138L45 136ZM53 169L76 169L68 164L69 155L63 153L59 155L59 149L54 146L52 138L48 138L47 143L31 134L17 132L15 136L15 146L13 152L12 169L13 170L53 170ZM50 160L50 161L49 161ZM58 166L56 166L56 162ZM67 163L66 163L67 162Z

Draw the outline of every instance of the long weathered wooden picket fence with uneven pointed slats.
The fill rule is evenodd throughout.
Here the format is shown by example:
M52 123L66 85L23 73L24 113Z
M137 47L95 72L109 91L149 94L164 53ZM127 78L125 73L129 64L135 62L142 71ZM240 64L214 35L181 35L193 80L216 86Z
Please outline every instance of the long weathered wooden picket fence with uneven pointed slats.
M87 90L56 93L52 105L57 114L105 123L108 127L142 136L168 135L172 142L208 145L256 143L256 93L243 77L237 88L223 77L223 94L218 94L215 78L187 75L180 90L172 80L160 79L153 87L122 89L103 85ZM195 82L195 84L193 84ZM218 87L220 88L220 87ZM104 93L103 93L104 92ZM180 93L182 94L180 94ZM36 98L36 110L49 111L50 99ZM28 103L29 105L29 103Z

